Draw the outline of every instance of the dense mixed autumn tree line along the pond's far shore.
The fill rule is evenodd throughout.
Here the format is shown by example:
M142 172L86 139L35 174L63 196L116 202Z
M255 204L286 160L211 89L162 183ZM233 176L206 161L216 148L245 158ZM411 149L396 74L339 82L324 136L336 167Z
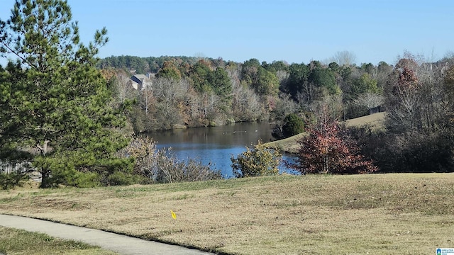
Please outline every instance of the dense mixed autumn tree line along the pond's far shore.
M150 68L150 61L156 68ZM153 87L143 91L128 86L131 70L137 72L143 66L138 63L148 63L144 74L156 72ZM385 62L341 66L319 61L239 63L221 58L131 56L108 57L98 67L115 73L110 77L115 78L111 83L119 100L138 101L131 115L138 132L256 120L274 121L279 130L287 115L305 116L326 98L336 101L333 114L338 118L355 118L379 111L384 84L394 69Z

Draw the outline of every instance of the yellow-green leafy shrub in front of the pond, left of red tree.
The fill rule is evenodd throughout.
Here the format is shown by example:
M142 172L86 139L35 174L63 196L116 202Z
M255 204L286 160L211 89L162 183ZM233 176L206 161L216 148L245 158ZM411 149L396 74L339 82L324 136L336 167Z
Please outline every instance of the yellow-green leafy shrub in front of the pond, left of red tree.
M282 154L271 149L258 140L257 145L251 145L253 149L246 147L246 151L239 154L237 158L231 157L233 175L236 178L253 176L270 176L279 174L279 163Z

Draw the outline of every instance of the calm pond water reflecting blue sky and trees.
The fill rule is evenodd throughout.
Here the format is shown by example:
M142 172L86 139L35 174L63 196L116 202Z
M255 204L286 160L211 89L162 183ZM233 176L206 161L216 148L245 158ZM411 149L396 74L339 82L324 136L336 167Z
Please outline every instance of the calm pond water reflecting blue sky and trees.
M256 145L258 140L272 140L273 125L267 122L234 123L211 128L188 128L184 130L165 130L148 134L157 141L157 149L172 147L172 152L179 160L195 159L202 164L211 164L221 170L226 178L233 176L231 156L245 152L245 147ZM283 159L292 160L291 155ZM280 171L294 173L284 164Z

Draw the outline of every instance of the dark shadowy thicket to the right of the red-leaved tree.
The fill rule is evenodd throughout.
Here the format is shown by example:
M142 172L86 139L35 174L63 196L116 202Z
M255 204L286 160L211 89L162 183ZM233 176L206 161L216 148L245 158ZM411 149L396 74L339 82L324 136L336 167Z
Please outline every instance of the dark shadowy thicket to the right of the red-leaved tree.
M374 160L381 173L450 172L454 169L453 133L448 128L403 134L376 132L369 127L349 130L358 140L361 154Z

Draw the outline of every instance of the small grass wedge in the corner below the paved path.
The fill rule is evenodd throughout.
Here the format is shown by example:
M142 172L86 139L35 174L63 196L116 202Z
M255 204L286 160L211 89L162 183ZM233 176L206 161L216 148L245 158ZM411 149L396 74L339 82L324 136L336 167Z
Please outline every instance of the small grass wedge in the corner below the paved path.
M0 253L1 254L90 254L114 255L113 251L106 251L96 246L82 242L67 241L47 234L26 232L8 227L0 227Z

